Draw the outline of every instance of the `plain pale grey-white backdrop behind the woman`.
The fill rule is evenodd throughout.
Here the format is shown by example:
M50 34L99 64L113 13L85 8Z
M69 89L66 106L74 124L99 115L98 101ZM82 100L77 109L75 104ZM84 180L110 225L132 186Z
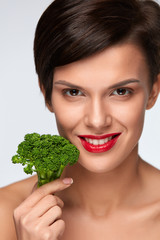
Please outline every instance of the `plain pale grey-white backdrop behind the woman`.
M33 61L37 21L52 0L0 0L0 187L28 177L11 163L26 133L58 134L45 107ZM140 155L160 169L160 98L146 112Z

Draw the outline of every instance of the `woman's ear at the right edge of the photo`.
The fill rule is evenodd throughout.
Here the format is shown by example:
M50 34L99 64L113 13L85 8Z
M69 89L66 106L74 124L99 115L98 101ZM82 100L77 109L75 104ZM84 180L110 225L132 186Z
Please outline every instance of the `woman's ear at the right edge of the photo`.
M154 106L158 98L159 92L160 92L160 74L157 75L157 80L152 86L152 90L150 92L147 107L146 107L147 110Z

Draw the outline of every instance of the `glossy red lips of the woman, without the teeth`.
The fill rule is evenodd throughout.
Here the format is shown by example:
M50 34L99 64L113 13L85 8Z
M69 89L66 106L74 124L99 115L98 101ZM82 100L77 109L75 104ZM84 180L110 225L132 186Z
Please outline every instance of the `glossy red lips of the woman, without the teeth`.
M109 151L116 144L120 135L121 135L121 133L111 133L111 134L105 134L105 135L101 135L101 136L80 135L79 138L81 140L82 146L88 152L102 153L102 152ZM109 137L112 137L112 139L109 140L108 142L106 142L104 144L100 144L100 145L94 145L94 144L91 144L91 143L89 143L85 140L85 138L100 140L100 139L105 139L105 138L109 138Z

